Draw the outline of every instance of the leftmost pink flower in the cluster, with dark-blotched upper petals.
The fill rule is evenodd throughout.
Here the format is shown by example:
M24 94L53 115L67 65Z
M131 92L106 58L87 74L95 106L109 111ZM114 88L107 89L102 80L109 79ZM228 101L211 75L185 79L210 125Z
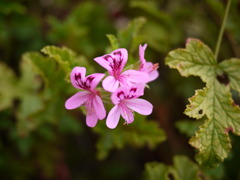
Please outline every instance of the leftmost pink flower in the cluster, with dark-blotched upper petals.
M99 92L95 90L104 74L95 73L87 77L85 75L86 69L84 67L75 67L72 70L70 75L72 85L84 91L77 92L70 97L66 101L65 107L66 109L75 109L85 105L87 109L86 123L89 127L94 127L98 119L102 120L106 117L102 99L99 96Z

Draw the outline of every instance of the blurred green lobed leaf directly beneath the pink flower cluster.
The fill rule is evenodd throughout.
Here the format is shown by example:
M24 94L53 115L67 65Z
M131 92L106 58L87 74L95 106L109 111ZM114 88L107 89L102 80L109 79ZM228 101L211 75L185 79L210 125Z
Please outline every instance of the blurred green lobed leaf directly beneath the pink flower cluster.
M166 139L164 131L158 128L155 122L147 122L138 114L135 115L134 124L120 124L113 131L104 123L99 123L93 130L101 135L97 143L98 159L105 159L111 149L122 149L126 144L133 147L147 145L149 148L154 148Z

